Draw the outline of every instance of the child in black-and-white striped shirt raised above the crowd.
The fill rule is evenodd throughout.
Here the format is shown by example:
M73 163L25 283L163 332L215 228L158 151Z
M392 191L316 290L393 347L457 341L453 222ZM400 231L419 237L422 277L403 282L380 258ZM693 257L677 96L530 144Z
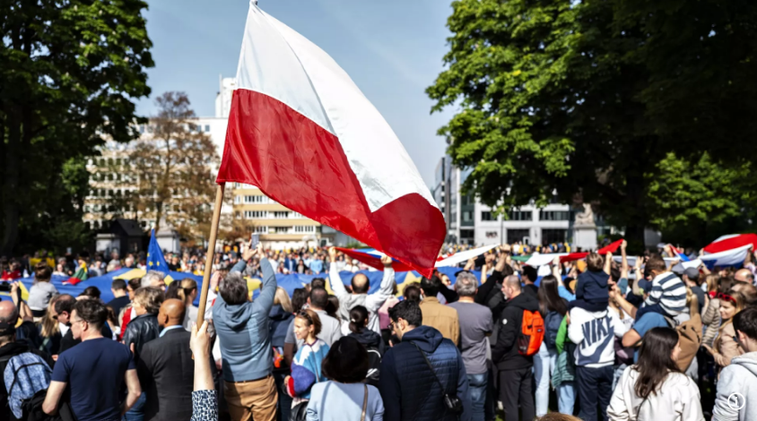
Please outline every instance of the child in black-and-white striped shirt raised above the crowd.
M686 286L683 280L672 271L667 271L665 260L659 254L649 257L647 271L652 280L644 289L649 294L644 306L636 312L636 320L650 312L668 317L681 314L686 308Z

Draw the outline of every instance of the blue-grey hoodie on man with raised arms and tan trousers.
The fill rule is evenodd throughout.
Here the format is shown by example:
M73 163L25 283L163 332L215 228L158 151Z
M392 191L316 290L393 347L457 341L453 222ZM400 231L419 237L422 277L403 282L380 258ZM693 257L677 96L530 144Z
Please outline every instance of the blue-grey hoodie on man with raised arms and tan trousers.
M274 305L276 275L268 259L260 260L260 269L263 285L254 302L229 305L219 295L213 305L213 324L221 340L223 380L227 382L261 379L273 370L268 313Z

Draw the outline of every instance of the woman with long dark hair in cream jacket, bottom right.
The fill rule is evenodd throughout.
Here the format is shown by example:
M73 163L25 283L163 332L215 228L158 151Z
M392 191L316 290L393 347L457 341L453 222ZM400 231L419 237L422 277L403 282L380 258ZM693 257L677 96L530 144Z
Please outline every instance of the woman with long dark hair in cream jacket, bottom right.
M639 362L625 369L613 392L611 420L700 421L704 419L697 383L681 373L678 332L654 328L644 335Z

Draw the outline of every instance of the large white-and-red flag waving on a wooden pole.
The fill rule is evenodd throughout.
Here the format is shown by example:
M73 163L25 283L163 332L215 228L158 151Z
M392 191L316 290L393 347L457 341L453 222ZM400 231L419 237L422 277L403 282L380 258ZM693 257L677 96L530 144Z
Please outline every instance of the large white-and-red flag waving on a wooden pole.
M444 241L444 217L376 107L334 59L254 2L216 181L256 185L425 275Z

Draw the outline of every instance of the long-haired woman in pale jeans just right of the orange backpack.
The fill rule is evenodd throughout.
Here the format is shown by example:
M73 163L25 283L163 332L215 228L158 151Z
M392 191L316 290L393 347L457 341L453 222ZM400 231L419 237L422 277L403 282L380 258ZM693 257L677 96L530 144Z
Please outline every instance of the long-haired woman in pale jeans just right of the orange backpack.
M534 377L536 379L536 417L547 413L549 407L550 377L557 362L557 348L554 340L565 314L568 313L568 302L560 296L557 290L559 282L553 275L542 278L536 296L539 299L539 313L544 318L544 341L539 352L534 356ZM552 340L550 340L552 339ZM564 393L570 393L572 384L561 384ZM560 391L558 391L560 399Z

